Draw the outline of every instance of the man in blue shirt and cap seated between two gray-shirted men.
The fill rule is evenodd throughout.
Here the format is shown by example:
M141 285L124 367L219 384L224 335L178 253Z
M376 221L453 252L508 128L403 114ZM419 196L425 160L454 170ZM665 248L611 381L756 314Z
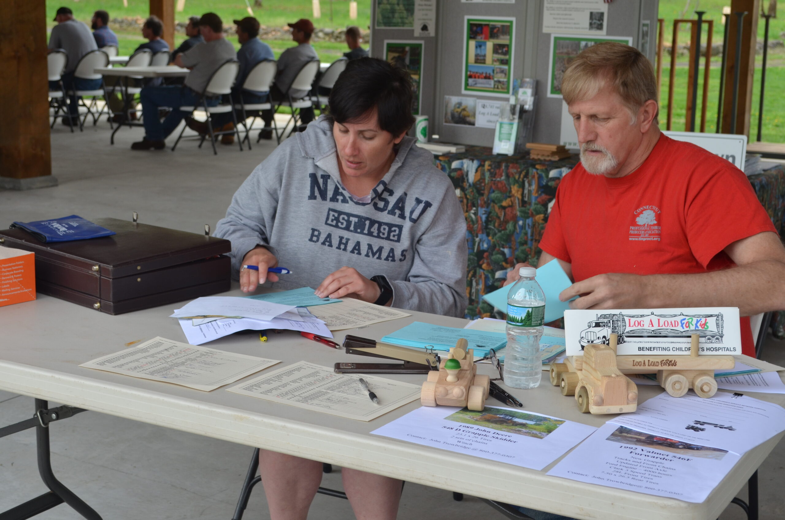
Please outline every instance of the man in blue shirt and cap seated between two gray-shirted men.
M259 21L253 16L246 16L243 20L234 20L237 24L237 39L240 42L240 49L237 51L237 60L240 62L240 68L237 72L237 80L235 86L232 86L232 100L239 103L242 98L243 102L251 103L264 103L267 101L268 91L258 92L256 90L243 89L248 73L254 66L263 60L275 60L276 57L272 53L272 49L265 42L262 42L257 36L259 35ZM243 118L242 111L235 111L237 120ZM219 132L232 130L235 123L232 122L232 113L225 112L222 114L215 114L213 116L214 130ZM207 134L207 123L196 121L195 119L188 118L188 127L196 130L199 134ZM235 136L232 134L224 134L221 136L221 143L224 145L232 145L235 142Z

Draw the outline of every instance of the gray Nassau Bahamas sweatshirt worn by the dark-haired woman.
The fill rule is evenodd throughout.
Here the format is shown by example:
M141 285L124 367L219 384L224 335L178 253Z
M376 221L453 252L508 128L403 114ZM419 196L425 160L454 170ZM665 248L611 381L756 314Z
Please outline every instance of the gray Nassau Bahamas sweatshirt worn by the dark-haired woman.
M384 178L356 199L341 185L328 120L284 141L243 182L215 230L232 242L235 276L262 245L292 270L270 287L316 288L347 265L386 276L394 307L462 317L466 219L455 189L414 139L397 148Z

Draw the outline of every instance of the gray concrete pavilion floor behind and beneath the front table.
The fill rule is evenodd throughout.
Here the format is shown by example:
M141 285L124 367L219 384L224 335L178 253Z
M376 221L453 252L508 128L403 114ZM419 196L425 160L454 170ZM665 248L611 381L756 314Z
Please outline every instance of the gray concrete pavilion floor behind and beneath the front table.
M223 217L235 189L274 148L274 141L250 152L219 145L196 148L184 141L176 152L133 152L130 143L141 129L122 129L109 145L108 125L89 126L71 134L59 124L52 131L53 174L60 185L29 192L0 190L0 226L15 220L79 214L84 218L130 219L201 233L204 224ZM255 137L255 136L254 136ZM785 342L769 338L764 358L785 364ZM0 427L27 419L30 397L0 391ZM225 441L185 434L96 412L54 423L52 460L61 482L86 500L105 520L213 520L232 518L251 449ZM761 520L785 517L785 442L780 442L759 471ZM326 487L341 489L340 473L323 478ZM0 438L0 511L46 491L35 465L35 433L27 430ZM739 493L747 497L746 490ZM60 505L35 518L82 518ZM269 518L264 493L257 488L245 518ZM313 520L353 518L345 500L317 495ZM450 492L407 484L398 518L464 520L504 518L479 499L458 503ZM721 520L744 518L731 505Z

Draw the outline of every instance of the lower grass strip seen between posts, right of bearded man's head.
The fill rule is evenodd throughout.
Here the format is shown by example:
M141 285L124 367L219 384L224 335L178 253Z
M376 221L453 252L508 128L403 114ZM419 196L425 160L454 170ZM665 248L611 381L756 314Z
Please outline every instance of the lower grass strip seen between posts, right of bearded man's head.
M663 85L659 108L659 123L666 126L668 108L668 82L670 68L663 67ZM685 130L685 107L687 104L687 68L676 68L674 88L674 119L671 130ZM720 87L720 69L712 68L709 80L709 102L707 104L706 131L714 132L717 128L717 99ZM758 135L758 104L761 92L761 69L755 69L752 95L752 115L750 117L750 142L756 141ZM698 87L698 114L696 130L700 130L701 95L703 94L703 73L700 75ZM766 92L764 97L762 141L785 142L785 67L769 68L766 71Z

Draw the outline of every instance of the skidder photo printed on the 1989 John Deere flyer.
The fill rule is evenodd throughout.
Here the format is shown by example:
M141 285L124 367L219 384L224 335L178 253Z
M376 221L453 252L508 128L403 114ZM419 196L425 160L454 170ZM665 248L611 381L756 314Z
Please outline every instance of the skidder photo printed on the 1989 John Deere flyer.
M482 412L474 412L464 408L459 412L445 417L456 423L473 424L474 426L491 428L507 434L525 435L526 437L544 439L564 424L561 419L539 416L535 413L517 412L506 408L486 406Z

